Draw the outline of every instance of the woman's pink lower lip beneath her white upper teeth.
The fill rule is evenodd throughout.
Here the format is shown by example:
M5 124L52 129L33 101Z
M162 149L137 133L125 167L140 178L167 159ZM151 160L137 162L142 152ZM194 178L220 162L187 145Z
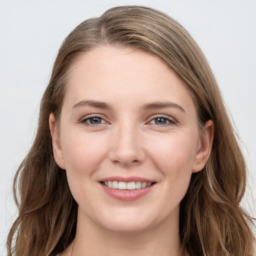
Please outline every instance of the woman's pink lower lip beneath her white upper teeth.
M144 188L138 188L138 189L117 189L117 188L111 188L108 187L102 183L100 183L103 187L104 191L111 197L122 200L122 201L133 201L138 199L139 197L149 193L155 183L153 183L150 186L144 187Z

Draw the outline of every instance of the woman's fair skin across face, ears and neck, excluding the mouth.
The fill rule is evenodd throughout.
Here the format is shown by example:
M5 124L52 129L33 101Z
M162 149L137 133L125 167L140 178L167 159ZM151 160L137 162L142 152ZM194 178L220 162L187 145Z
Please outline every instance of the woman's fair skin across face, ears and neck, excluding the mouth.
M172 105L143 108L152 102ZM91 115L101 123L91 124ZM143 51L94 48L73 65L58 126L54 121L50 114L54 158L78 203L74 244L63 255L72 246L75 256L180 255L179 203L192 172L208 159L213 124L198 131L195 104L175 72ZM156 183L142 197L122 201L99 182L117 175Z

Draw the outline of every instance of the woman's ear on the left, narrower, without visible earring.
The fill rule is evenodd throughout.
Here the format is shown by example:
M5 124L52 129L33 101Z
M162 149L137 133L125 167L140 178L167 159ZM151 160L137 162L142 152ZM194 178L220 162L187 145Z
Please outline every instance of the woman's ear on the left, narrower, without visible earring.
M60 145L60 134L55 124L55 117L53 113L50 113L49 116L49 128L52 140L52 149L53 149L53 156L57 163L57 165L61 169L65 169L65 162L63 157L63 152Z

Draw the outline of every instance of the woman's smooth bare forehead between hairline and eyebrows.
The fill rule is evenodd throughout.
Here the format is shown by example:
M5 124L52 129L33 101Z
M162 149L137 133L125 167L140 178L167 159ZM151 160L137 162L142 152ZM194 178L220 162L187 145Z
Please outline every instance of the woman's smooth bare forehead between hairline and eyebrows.
M119 104L176 100L186 108L193 105L182 79L157 56L114 46L96 47L73 64L64 103L87 98Z

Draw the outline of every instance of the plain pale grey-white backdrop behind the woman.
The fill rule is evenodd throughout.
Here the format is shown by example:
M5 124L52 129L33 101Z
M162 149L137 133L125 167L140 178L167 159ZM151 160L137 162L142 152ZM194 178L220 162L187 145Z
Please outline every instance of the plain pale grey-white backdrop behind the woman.
M151 6L169 14L202 48L243 141L251 187L243 204L256 216L256 0L0 0L2 255L16 215L11 182L34 137L39 100L57 50L81 21L121 4Z

